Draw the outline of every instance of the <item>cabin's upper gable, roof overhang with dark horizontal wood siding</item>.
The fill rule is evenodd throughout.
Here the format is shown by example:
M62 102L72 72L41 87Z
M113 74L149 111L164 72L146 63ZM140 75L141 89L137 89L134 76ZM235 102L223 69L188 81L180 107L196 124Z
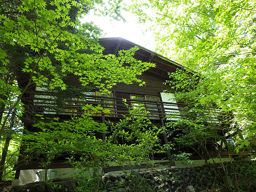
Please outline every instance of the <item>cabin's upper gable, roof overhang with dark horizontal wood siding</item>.
M165 80L169 79L168 72L174 72L177 68L182 68L182 65L123 38L100 38L99 43L105 48L104 54L118 54L119 50L127 50L138 46L139 50L135 52L134 58L156 64L155 68L150 68L139 77L146 82L146 86L139 87L138 83L130 85L119 83L112 88L116 92L160 96L160 92L163 90L170 90L170 86L163 84ZM78 77L74 76L69 76L66 83L72 86L80 86ZM93 87L93 84L89 84L89 86Z

